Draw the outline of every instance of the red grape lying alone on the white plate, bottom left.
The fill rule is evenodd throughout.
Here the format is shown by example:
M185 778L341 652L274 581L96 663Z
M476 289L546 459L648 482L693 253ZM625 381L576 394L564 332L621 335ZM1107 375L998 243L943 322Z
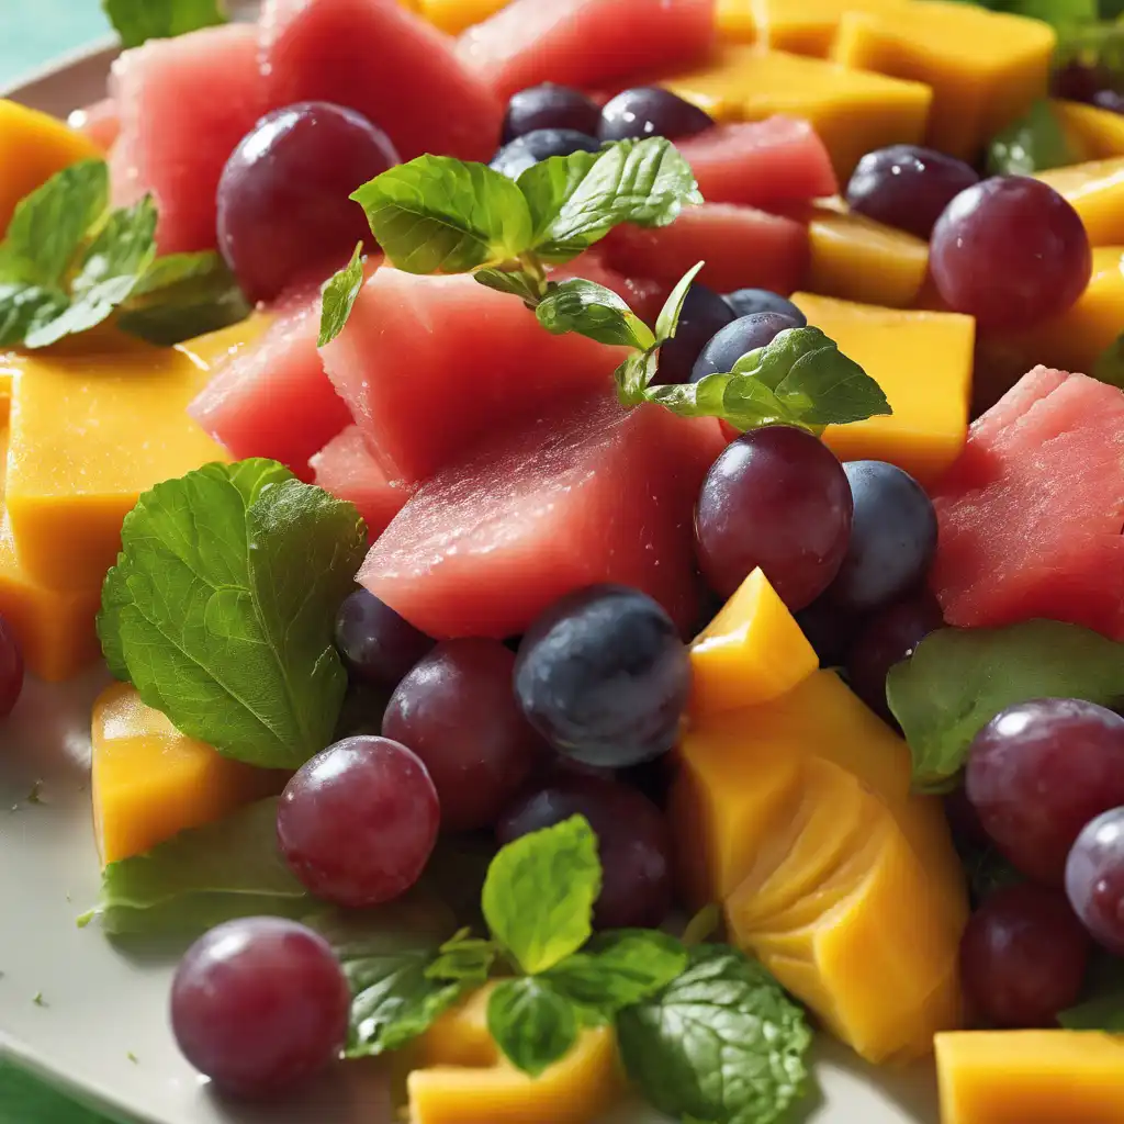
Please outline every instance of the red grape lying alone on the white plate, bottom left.
M172 1032L217 1088L285 1093L339 1055L351 992L327 942L296 922L248 917L197 941L172 984Z

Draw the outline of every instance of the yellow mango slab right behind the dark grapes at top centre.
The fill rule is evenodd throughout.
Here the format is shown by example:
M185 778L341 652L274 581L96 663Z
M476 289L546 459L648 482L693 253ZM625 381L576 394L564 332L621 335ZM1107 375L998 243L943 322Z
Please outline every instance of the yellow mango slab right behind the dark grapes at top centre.
M661 82L720 120L790 114L812 123L841 181L872 148L919 144L933 92L822 58L752 46L722 47L706 67Z

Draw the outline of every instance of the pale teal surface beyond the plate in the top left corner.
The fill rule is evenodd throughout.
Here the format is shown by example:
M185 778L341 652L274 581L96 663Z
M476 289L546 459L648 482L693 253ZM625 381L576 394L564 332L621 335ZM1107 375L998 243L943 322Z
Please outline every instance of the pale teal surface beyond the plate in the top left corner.
M99 0L0 0L0 85L109 30Z

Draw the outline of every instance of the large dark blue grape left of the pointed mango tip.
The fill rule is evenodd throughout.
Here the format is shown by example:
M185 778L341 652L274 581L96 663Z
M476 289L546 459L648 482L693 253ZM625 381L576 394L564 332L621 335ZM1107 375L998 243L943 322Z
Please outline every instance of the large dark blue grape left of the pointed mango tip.
M687 649L667 613L636 589L591 586L555 601L528 629L515 694L566 756L624 768L676 743L690 690Z

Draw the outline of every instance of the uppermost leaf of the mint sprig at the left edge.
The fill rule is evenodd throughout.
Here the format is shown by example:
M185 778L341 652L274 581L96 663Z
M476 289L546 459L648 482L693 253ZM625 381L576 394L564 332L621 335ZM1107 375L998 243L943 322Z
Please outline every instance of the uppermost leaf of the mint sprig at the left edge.
M84 160L19 201L0 244L0 281L58 289L109 208L109 167Z

